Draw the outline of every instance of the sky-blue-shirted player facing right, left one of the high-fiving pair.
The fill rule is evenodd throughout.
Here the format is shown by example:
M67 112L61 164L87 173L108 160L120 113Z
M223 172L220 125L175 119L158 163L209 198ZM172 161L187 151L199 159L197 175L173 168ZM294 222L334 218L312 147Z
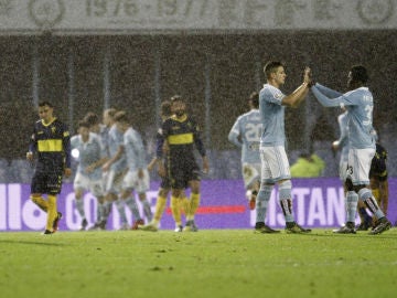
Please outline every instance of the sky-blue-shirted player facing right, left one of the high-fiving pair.
M290 95L279 88L287 74L283 64L270 61L264 68L267 84L259 93L259 111L262 121L260 137L261 183L256 200L256 233L278 233L265 224L266 211L275 183L279 188L279 202L286 219L287 233L309 233L294 221L291 196L291 174L286 153L285 108L298 107L309 92L310 68L304 70L303 83Z

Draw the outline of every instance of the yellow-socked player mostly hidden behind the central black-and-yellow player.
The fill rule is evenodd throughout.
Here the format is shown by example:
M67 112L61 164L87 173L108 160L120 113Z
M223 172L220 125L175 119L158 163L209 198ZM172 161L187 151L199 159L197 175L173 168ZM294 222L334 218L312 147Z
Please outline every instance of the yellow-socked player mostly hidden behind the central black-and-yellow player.
M161 104L161 119L164 123L171 116L172 116L171 103L169 100L165 100ZM164 141L163 141L161 128L159 129L159 131L155 136L155 139L157 139L157 151L162 150L161 146ZM158 198L157 198L157 202L155 202L155 210L154 210L154 215L153 215L152 221L146 225L138 226L138 228L140 228L142 231L157 232L159 230L160 220L165 210L167 196L171 190L171 182L168 177L168 159L167 158L154 157L148 164L148 171L151 171L159 162L162 162L164 164L165 175L161 177L161 183L160 183L160 189L159 189L159 193L158 193ZM187 198L186 198L185 193L183 194L183 196L184 196L184 199L183 199L182 204L189 204L190 201L186 201ZM173 209L172 216L175 220L175 222L181 221L181 207ZM175 232L182 232L182 226L176 224Z

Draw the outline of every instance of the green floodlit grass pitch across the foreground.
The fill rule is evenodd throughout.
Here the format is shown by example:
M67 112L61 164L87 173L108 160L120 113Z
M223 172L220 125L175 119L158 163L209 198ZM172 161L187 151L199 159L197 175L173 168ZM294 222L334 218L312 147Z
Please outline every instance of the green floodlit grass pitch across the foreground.
M397 297L397 228L0 233L1 297Z

